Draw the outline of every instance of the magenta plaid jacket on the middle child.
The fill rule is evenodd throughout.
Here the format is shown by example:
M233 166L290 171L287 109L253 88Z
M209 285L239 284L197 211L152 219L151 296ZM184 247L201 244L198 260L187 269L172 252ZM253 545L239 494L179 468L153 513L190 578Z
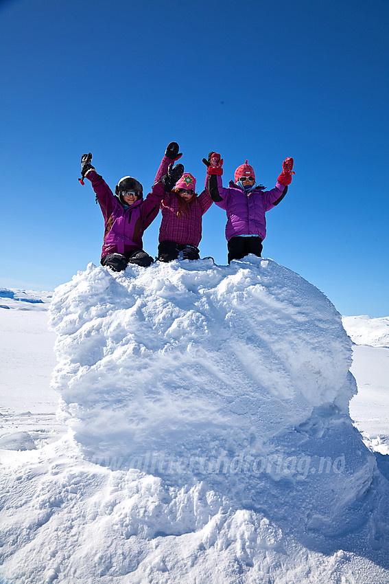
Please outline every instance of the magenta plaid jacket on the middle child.
M167 173L167 167L171 162L169 158L163 157L155 181L161 180L161 177ZM174 241L174 243L198 247L202 234L202 216L211 207L213 201L208 190L203 190L188 203L188 213L182 211L178 215L178 196L180 195L170 192L161 203L162 222L159 229L159 242Z

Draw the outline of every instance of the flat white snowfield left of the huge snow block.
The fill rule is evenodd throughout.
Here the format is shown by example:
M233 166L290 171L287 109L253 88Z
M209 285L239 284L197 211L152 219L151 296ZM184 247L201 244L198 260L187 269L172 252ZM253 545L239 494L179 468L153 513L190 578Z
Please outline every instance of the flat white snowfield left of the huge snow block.
M36 448L58 438L58 394L50 379L56 335L48 330L51 297L0 289L0 447Z

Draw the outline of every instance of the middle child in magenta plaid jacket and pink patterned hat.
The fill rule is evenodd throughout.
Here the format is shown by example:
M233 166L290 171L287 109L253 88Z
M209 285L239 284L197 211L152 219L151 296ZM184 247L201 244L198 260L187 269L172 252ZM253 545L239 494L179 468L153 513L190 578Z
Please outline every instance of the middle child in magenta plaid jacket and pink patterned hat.
M165 174L167 166L178 160L178 144L171 142L156 173L155 181ZM198 244L202 234L202 216L212 205L207 190L196 193L196 179L185 172L172 192L167 192L161 202L162 222L159 230L158 260L170 262L178 257L198 260Z

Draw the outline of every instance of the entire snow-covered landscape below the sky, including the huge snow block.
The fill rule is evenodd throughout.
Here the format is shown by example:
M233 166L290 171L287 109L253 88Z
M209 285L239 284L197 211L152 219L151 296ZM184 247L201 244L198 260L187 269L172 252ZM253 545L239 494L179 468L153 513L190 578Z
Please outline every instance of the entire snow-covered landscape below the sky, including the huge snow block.
M0 290L0 583L388 583L389 317L249 256Z

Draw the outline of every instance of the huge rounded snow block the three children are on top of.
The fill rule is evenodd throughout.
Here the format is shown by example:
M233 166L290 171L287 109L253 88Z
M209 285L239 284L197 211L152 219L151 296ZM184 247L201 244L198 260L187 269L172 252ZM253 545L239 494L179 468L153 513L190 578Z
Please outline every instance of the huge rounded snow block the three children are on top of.
M209 462L346 415L351 342L318 289L271 260L92 265L56 290L53 387L90 458ZM301 426L303 425L303 426ZM123 460L121 464L126 464Z

